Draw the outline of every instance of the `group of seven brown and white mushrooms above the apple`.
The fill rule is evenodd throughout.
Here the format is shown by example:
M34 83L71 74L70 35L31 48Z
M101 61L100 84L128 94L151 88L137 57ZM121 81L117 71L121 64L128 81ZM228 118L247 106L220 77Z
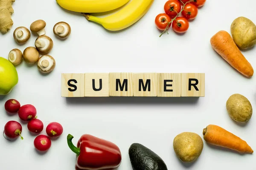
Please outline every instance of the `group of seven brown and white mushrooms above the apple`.
M53 41L45 35L45 26L46 22L44 20L36 20L30 25L30 31L38 34L35 47L27 47L23 53L17 48L12 49L9 52L8 59L13 65L19 65L24 59L29 64L37 62L38 70L42 73L49 73L55 68L55 59L48 55L52 50ZM13 37L17 43L24 44L30 38L30 31L24 26L17 27L13 32ZM53 27L53 33L61 39L66 39L71 33L70 25L65 22L58 22ZM42 54L41 57L39 57L39 53Z

